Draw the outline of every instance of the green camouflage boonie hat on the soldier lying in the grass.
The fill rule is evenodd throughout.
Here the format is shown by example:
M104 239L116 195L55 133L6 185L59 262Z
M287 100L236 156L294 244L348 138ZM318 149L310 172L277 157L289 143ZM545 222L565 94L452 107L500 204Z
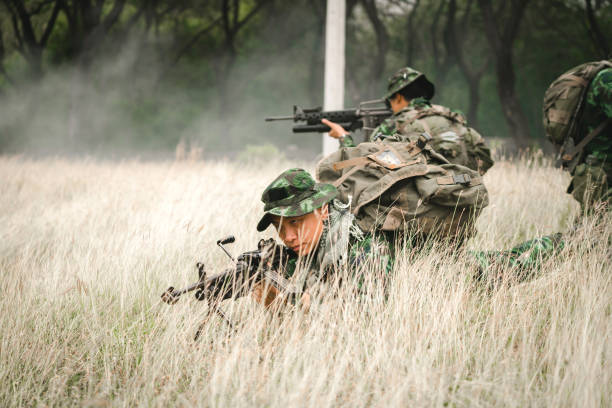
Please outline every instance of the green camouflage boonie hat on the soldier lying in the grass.
M261 195L264 215L257 224L263 231L272 222L272 216L298 217L323 207L338 194L331 184L315 183L303 169L289 169L276 178Z

